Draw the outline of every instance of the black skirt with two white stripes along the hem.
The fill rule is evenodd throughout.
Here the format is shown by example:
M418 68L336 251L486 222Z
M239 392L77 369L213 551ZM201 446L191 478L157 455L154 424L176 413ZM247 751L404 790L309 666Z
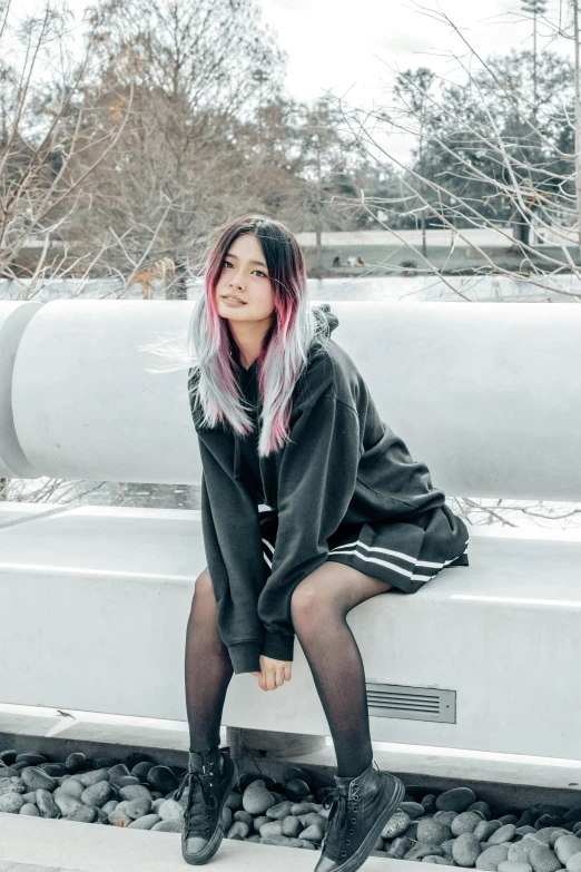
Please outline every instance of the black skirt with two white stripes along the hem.
M268 509L259 517L268 578L278 513ZM405 521L339 525L327 540L327 561L352 566L402 594L415 594L442 569L469 566L467 543L464 521L444 503Z

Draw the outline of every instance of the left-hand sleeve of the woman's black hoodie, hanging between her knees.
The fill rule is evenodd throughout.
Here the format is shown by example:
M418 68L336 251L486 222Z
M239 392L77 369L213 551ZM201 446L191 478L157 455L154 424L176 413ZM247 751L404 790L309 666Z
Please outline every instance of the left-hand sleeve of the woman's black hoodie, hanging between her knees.
M258 507L244 483L234 478L227 460L218 460L203 439L199 451L204 468L201 530L220 638L228 647L235 675L260 672L264 629L257 602L265 562ZM224 447L218 454L227 455Z

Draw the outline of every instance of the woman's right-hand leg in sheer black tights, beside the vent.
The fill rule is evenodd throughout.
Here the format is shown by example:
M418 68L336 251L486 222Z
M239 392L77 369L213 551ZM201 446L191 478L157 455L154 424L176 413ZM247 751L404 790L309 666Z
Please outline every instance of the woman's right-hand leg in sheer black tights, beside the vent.
M358 775L373 760L365 672L345 617L360 602L391 589L329 560L297 585L290 600L295 633L327 716L342 777Z

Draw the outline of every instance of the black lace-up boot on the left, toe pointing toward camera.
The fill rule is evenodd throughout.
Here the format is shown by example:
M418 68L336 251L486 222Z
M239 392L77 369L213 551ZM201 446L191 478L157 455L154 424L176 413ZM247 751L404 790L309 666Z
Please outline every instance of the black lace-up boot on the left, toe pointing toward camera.
M189 781L187 809L181 831L181 855L186 863L201 865L214 856L221 840L221 813L238 781L238 768L218 745L199 754L189 752L188 771L176 793L179 800Z

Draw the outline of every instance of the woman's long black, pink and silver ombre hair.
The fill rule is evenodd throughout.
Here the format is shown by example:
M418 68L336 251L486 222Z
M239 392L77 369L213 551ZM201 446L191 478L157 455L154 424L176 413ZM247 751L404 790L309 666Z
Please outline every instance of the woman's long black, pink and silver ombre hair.
M197 429L224 425L246 435L253 423L245 411L237 376L242 366L228 320L218 314L216 286L226 253L245 233L256 236L273 285L275 308L257 359L260 400L258 454L266 457L288 440L293 390L313 344L328 337L307 298L303 252L290 231L262 215L245 215L217 228L207 255L205 288L188 329L188 354L196 361L188 388Z

